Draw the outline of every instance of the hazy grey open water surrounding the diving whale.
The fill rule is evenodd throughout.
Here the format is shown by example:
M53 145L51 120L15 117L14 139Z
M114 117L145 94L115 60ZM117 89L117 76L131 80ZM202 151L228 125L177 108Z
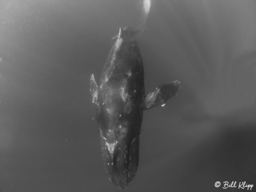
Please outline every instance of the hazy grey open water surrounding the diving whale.
M218 191L226 180L255 190L255 19L250 0L153 1L147 22L135 0L2 0L0 190L120 191L104 170L89 89L124 26L145 28L146 93L182 83L145 111L125 191Z

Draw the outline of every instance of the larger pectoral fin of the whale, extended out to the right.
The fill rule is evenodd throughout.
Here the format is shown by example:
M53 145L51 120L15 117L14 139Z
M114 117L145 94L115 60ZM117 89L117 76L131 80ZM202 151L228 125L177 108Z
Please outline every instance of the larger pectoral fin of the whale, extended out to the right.
M173 97L180 89L180 82L161 84L154 92L148 93L143 101L143 110L164 105L164 103Z

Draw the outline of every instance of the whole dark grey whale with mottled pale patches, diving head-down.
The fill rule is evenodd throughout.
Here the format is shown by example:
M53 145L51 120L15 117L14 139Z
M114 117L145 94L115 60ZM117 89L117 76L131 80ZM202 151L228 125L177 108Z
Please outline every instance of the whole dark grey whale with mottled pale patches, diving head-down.
M143 110L164 104L180 88L179 81L173 81L145 96L137 32L120 28L99 86L93 75L90 83L104 166L111 182L120 189L127 188L138 168Z

